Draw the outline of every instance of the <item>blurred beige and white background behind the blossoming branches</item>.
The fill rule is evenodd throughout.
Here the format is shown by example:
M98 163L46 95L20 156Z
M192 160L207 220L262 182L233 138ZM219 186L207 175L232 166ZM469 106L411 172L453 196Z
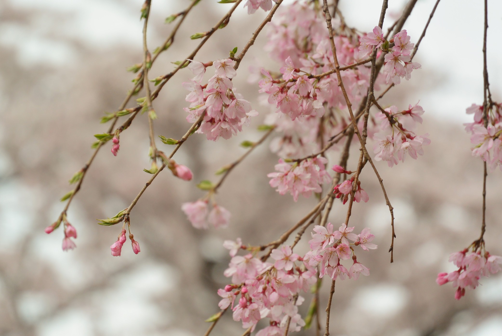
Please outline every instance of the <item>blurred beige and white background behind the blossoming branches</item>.
M153 1L150 49L161 45L172 29L164 19L188 3ZM405 25L412 42L434 3L419 0L416 5ZM488 3L488 71L493 98L500 101L502 3ZM391 0L390 18L398 17L404 4ZM278 66L263 51L263 34L235 79L260 116L230 140L210 142L195 134L183 145L176 161L191 167L195 178L187 183L163 172L140 199L131 215L139 255L127 243L121 257L112 257L109 246L120 228L99 226L95 219L126 208L149 179L142 171L149 168L146 117L138 117L122 134L116 157L104 146L92 164L68 212L78 232L77 249L61 251L61 230L43 232L63 209L58 200L70 190L67 181L91 155L92 135L108 127L99 124L100 117L115 111L132 87L134 75L126 68L142 60L141 5L141 0L0 0L2 336L202 335L208 327L203 320L219 310L216 290L227 283L222 273L230 258L223 240L241 237L252 245L274 240L315 204L313 198L295 204L268 185L266 174L274 171L277 156L267 142L220 189L218 203L232 213L229 228L197 231L180 210L181 203L204 195L195 187L199 181L216 181L214 172L243 153L241 141L262 136L256 126L270 110L259 104L258 87L247 82L247 68ZM208 30L230 6L202 0L150 77L173 69L170 62L184 59L198 44L188 37ZM349 25L369 31L378 22L381 2L340 0L339 6ZM426 111L422 130L430 133L432 143L424 156L392 170L378 162L395 208L394 264L387 253L391 231L380 186L370 171L361 176L370 200L355 204L351 221L359 230L370 227L379 249L358 259L371 269L369 277L337 282L334 335L502 335L499 274L484 278L461 301L454 300L449 285L435 283L438 272L452 270L448 255L468 246L480 230L482 162L471 156L462 123L471 118L465 108L482 103L482 16L481 1L443 0L415 59L422 69L384 100L406 107L420 99ZM239 7L196 60L224 58L233 47L241 49L264 17L261 10L248 16ZM190 75L180 71L155 100L157 134L180 138L189 127L180 83ZM157 145L169 150L160 141ZM355 166L357 152L355 148L349 167ZM486 247L497 255L502 254L501 174L490 174L487 188ZM330 221L342 223L345 209L335 202ZM306 241L299 251L307 251ZM329 289L324 287L321 307ZM225 314L213 334L243 331L240 322ZM297 334L313 335L315 330Z

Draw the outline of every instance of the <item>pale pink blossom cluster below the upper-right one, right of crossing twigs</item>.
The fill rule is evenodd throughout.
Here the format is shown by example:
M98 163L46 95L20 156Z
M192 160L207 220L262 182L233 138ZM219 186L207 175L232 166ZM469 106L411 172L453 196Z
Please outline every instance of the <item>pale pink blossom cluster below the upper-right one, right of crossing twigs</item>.
M422 123L421 115L424 113L422 106L409 105L407 110L398 112L396 106L385 109L386 113L379 112L375 119L381 120L380 131L373 135L373 152L376 161L387 161L392 167L398 160L404 162L407 155L416 159L423 155L422 146L431 143L429 134L416 135L416 123Z

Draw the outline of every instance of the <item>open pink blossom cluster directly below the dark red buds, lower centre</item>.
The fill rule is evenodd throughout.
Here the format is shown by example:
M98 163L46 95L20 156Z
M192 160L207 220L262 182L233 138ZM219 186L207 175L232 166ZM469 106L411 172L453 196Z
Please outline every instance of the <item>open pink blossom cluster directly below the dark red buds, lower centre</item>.
M345 224L336 231L333 231L331 223L326 227L320 225L314 227L315 233L309 241L311 251L307 252L304 260L308 260L310 267L319 266L320 278L327 275L333 280L338 278L344 280L346 277L357 280L360 274L369 275L369 269L357 261L354 247L360 246L365 251L376 249L377 246L371 243L374 235L368 228L363 229L358 235L352 233L353 230L353 227L349 228ZM340 261L350 257L352 266L347 270Z

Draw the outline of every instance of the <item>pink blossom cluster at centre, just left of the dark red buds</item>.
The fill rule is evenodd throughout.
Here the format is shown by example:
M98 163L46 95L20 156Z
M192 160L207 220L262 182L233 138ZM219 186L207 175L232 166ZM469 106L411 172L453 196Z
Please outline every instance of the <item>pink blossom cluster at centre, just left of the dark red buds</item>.
M276 172L267 175L272 178L269 184L271 187L277 188L281 195L290 193L295 202L298 201L300 195L310 197L312 193L322 191L322 184L331 181L331 177L326 172L326 163L328 160L322 156L293 164L279 159L279 163L275 165Z

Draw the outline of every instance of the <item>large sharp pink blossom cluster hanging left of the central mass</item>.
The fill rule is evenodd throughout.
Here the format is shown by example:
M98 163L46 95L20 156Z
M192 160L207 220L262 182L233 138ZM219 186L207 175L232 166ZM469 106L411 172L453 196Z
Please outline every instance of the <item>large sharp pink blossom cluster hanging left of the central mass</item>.
M214 66L215 74L207 84L201 85L209 66ZM250 117L258 115L247 100L234 92L231 81L236 75L234 66L235 61L231 59L218 59L209 63L192 61L188 65L195 77L182 83L190 91L185 99L190 103L190 107L185 107L188 112L186 119L193 123L205 113L197 132L204 133L208 140L216 141L219 137L229 139L242 130L242 125L249 124Z

